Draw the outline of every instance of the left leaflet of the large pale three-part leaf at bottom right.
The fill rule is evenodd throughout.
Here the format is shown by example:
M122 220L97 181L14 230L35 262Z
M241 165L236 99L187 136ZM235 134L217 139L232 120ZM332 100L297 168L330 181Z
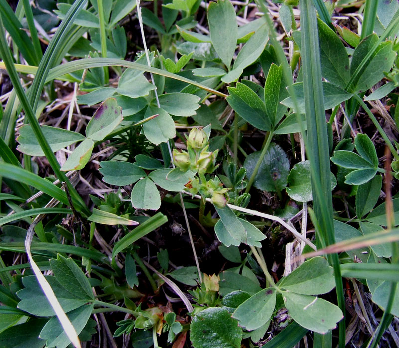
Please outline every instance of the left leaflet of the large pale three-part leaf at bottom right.
M239 305L232 317L237 319L238 324L246 330L255 330L269 321L275 305L276 290L274 288L262 289Z

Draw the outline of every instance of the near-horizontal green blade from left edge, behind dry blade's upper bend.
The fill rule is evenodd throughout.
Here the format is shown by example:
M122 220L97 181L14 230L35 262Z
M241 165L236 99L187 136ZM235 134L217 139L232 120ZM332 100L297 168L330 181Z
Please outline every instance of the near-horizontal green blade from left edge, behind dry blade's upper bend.
M58 244L58 243L43 243L43 242L32 242L31 249L33 251L53 251L57 253L67 253L77 256L85 256L89 259L97 262L109 264L106 255L102 254L97 250L89 250L81 247L75 247L73 245ZM0 243L0 250L12 251L16 253L26 253L24 242L11 242L11 243ZM50 255L51 254L42 254Z

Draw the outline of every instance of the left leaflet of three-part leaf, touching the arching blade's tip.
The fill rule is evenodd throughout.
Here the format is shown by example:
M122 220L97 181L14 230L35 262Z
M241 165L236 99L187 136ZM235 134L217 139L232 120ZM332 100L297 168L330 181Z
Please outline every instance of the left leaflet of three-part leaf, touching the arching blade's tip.
M245 121L261 130L272 129L265 104L251 88L237 82L235 87L228 87L228 92L227 102Z

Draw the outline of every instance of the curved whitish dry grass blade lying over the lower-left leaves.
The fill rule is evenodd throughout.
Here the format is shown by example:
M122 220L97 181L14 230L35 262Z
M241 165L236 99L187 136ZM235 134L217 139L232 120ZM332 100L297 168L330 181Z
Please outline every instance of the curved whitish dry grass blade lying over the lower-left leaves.
M46 207L49 205L52 205L54 202L58 203L58 201L51 200L49 202L49 204L46 205ZM41 288L43 289L44 295L46 296L48 302L50 303L51 307L53 308L66 335L68 336L69 340L71 340L72 344L76 348L81 348L80 340L78 338L78 334L76 333L75 328L73 327L69 318L66 316L64 310L62 309L60 303L58 302L57 297L54 294L53 289L51 288L50 284L47 282L44 275L41 273L39 267L34 262L33 257L32 257L30 245L32 244L34 228L39 223L39 221L42 220L43 218L44 218L44 215L37 215L27 231L26 239L25 239L26 253L28 254L29 262L32 266L32 270L33 270L34 274L36 275L37 281L39 282Z

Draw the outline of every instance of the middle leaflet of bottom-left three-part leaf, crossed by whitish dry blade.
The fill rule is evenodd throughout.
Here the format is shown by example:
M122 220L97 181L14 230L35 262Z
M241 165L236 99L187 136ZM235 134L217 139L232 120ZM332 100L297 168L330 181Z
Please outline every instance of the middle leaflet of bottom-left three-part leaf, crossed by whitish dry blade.
M87 298L82 299L65 289L54 276L46 276L46 280L50 283L64 312L68 313L87 302ZM39 317L55 316L55 312L44 295L37 278L35 276L25 276L22 278L22 283L25 288L17 292L18 297L21 299L18 303L18 308Z

